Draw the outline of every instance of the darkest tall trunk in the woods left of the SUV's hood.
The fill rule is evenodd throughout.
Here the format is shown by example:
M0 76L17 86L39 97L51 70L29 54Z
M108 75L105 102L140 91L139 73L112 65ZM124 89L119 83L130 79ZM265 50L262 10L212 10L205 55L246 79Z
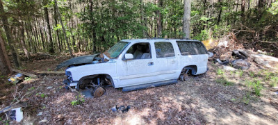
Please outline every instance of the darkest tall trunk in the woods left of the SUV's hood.
M51 28L50 28L50 22L49 22L47 3L48 3L48 0L43 0L44 19L47 22L47 38L48 38L48 42L49 42L49 44L48 44L48 52L49 53L54 53L54 44L53 44L52 36L51 36Z

